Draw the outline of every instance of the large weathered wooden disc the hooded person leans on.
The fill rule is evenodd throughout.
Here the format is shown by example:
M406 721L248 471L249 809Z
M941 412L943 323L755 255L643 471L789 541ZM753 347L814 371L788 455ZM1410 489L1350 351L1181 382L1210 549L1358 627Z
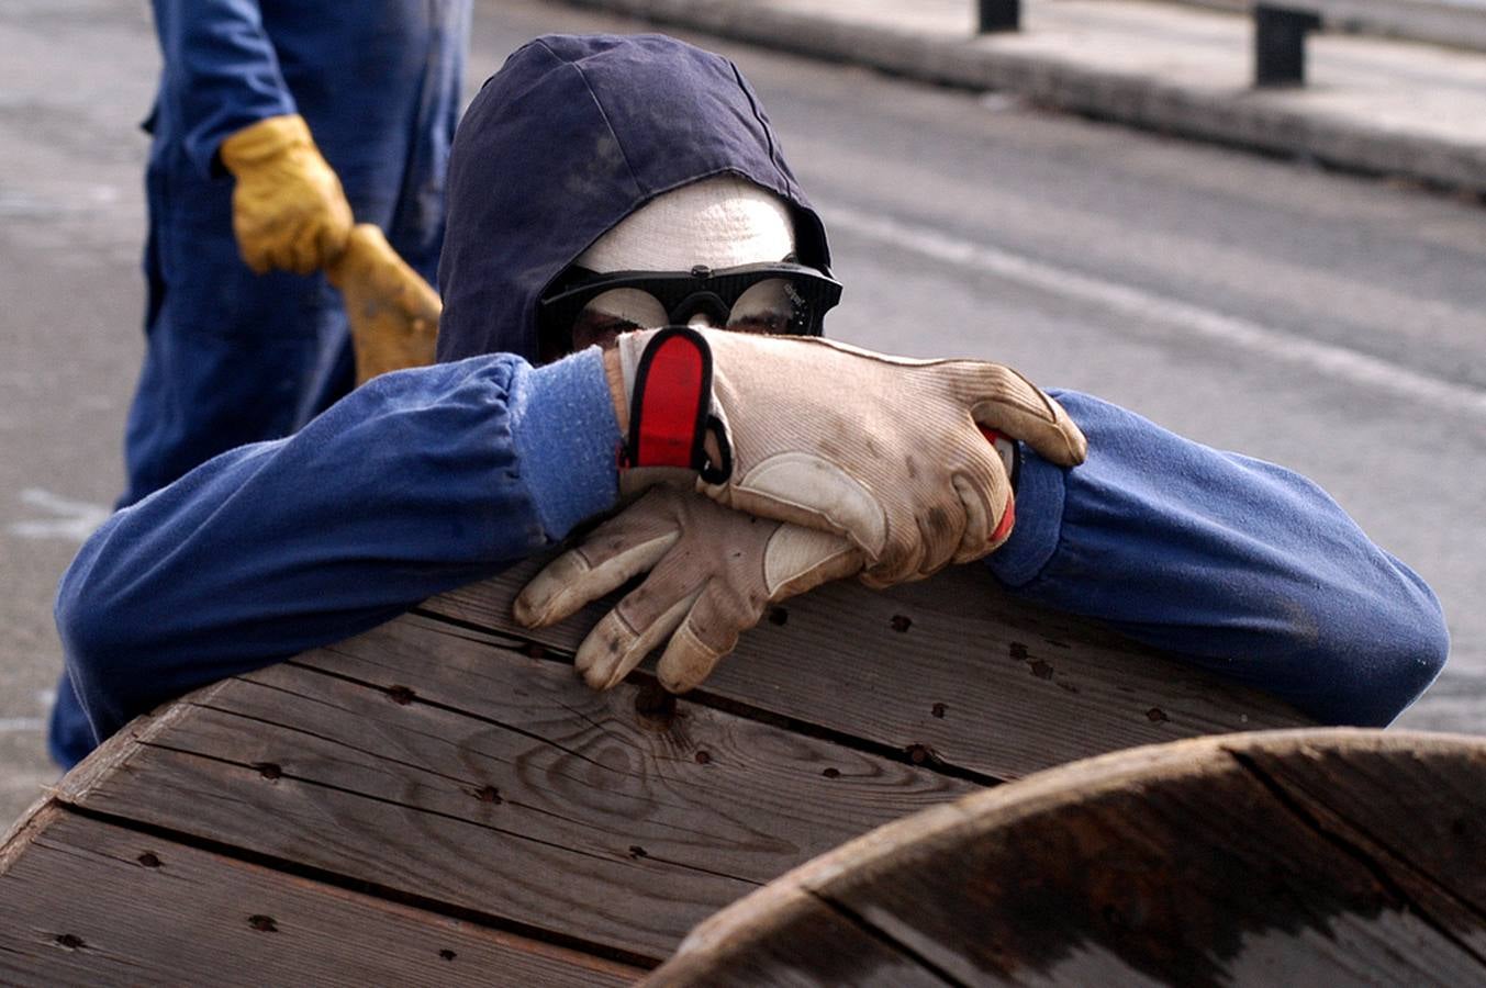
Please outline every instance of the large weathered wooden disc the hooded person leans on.
M273 972L265 951L284 930L355 926L352 945L406 945L407 964L389 970L416 981L429 930L455 920L484 946L447 949L481 963L435 964L443 984L623 978L716 909L892 820L1074 758L1303 722L1019 606L979 568L791 602L679 701L643 670L593 694L571 654L599 605L525 633L508 602L531 572L208 686L108 741L0 857L0 909L30 932L0 942L15 978L45 979L30 964L58 949L68 978L92 984L128 982L131 964L169 970L175 927L210 940L212 964ZM163 842L202 888L227 893L177 894L186 885L141 877L122 850L61 850L83 825ZM88 874L113 896L100 902L126 896L134 914L83 908ZM53 894L34 894L48 883ZM244 932L232 908L250 900L279 935ZM140 923L165 932L132 936ZM880 972L915 969L892 946L874 955ZM366 981L337 964L328 982Z

